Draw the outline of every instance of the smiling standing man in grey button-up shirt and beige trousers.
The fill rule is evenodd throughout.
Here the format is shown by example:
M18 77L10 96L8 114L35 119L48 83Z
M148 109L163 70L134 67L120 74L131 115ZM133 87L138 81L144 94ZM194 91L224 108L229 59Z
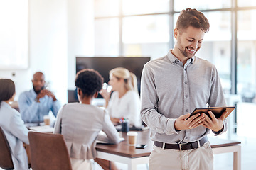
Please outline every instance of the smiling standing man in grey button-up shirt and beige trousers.
M207 134L227 130L225 113L209 112L189 118L195 108L226 106L218 72L195 56L210 24L203 13L181 11L174 49L145 64L142 72L142 120L151 128L154 150L149 169L213 169L213 151Z

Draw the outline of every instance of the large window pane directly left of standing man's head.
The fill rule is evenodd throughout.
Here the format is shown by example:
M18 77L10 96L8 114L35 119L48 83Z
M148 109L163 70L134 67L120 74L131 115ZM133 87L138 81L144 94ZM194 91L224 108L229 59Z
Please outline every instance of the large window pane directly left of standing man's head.
M123 23L124 56L146 56L151 59L169 50L169 17L131 16Z

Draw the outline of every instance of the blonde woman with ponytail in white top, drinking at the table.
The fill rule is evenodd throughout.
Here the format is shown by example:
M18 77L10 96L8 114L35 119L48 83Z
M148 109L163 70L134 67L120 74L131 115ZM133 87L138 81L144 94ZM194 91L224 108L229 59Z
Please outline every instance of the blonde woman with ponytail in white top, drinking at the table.
M114 91L111 98L111 92L106 89L102 89L100 94L105 98L105 107L112 122L119 123L120 118L127 118L130 125L142 126L136 76L128 69L118 67L110 70L109 84Z

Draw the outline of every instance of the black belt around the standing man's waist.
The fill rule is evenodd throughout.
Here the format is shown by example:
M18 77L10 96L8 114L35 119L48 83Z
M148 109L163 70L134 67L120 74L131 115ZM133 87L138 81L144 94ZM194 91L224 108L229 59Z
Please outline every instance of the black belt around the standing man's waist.
M198 147L203 146L208 141L208 137L203 137L203 139L198 140L196 142L187 142L187 143L181 143L181 144L168 144L163 142L154 142L154 145L156 147L161 147L163 149L176 149L176 150L190 150L190 149L196 149ZM200 146L198 145L200 144ZM164 147L163 147L164 145Z

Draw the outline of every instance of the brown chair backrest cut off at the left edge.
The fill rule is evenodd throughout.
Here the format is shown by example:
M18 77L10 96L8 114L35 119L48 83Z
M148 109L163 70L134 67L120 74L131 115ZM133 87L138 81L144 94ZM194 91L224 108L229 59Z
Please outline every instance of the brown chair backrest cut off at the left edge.
M0 127L0 167L2 169L14 169L14 164L11 159L11 150L9 143L6 140L6 135Z

